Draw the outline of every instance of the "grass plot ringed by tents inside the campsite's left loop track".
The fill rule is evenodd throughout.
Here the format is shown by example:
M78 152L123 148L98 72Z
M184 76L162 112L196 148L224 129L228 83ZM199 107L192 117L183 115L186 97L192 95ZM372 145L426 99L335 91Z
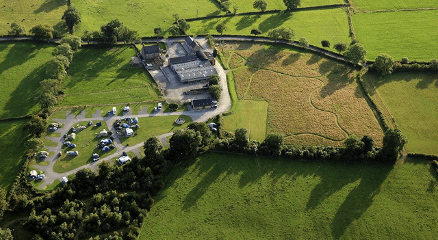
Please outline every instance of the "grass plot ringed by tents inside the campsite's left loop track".
M80 125L87 125L88 121L79 122ZM70 126L66 126L70 127ZM76 128L76 125L75 125ZM76 144L76 148L68 148L64 146L62 151L64 154L57 159L55 165L53 166L53 171L55 172L68 172L75 168L79 168L81 165L86 165L92 162L91 155L94 152L99 153L101 158L111 155L112 153L117 151L117 148L110 150L109 152L103 152L101 149L96 148L99 140L105 138L97 138L94 133L99 133L101 129L107 129L107 124L102 122L102 126L88 126L86 129L76 132L76 138L73 141L70 141L72 144ZM77 157L71 157L66 154L67 151L78 151L79 155Z

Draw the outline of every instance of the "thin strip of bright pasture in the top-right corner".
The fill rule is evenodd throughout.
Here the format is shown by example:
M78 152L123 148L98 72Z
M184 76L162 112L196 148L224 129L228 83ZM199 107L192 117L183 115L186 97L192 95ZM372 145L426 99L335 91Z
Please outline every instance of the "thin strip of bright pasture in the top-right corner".
M438 8L435 0L351 0L360 10L399 10L417 8Z

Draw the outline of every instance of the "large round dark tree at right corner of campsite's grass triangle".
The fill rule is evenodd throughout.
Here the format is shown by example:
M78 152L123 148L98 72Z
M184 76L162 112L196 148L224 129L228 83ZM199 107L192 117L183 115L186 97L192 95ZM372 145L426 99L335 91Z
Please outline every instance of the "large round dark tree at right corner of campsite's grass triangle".
M169 140L169 152L175 159L181 159L189 154L195 155L203 137L193 129L177 130Z

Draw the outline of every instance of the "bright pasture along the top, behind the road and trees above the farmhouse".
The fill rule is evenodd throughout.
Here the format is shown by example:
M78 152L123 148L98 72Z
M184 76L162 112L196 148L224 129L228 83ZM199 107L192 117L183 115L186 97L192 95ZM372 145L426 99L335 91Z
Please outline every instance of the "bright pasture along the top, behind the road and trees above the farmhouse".
M85 30L97 30L118 18L124 25L137 29L140 36L153 36L155 27L166 31L172 25L175 21L172 14L175 13L181 18L225 14L214 0L79 0L74 1L73 5L81 13L82 23L77 27L78 34Z

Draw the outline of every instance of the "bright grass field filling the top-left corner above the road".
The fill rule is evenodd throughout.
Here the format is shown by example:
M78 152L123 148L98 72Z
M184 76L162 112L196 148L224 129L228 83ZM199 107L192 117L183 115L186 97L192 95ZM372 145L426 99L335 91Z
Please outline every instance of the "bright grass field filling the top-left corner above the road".
M62 14L67 10L64 0L0 0L0 34L8 34L10 24L18 22L29 30L38 24L47 24L60 34L67 32Z

